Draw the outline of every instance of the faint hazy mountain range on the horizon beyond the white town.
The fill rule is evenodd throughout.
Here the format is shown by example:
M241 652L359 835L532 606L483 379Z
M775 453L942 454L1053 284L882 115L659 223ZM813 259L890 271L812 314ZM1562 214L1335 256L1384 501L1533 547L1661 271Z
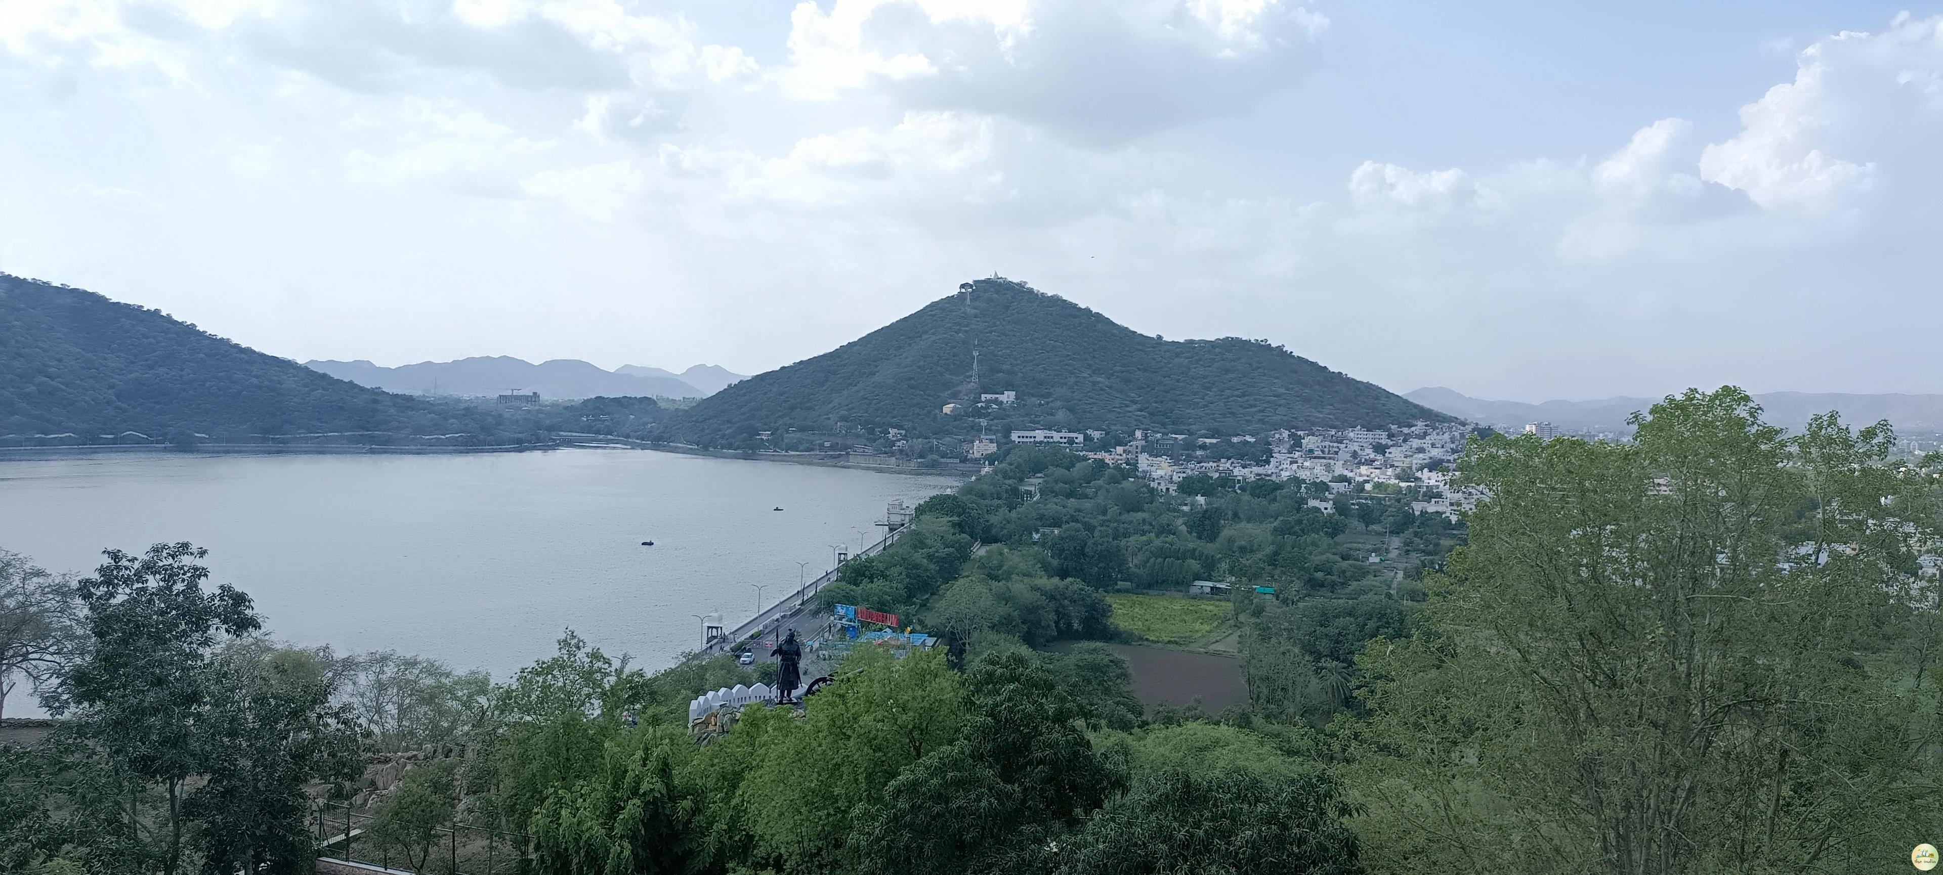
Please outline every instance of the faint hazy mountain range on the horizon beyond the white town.
M1461 392L1430 386L1405 392L1424 407L1469 419L1496 429L1523 429L1525 423L1552 423L1566 431L1613 431L1624 433L1632 427L1626 417L1657 404L1657 398L1605 398L1597 402L1486 402ZM1931 433L1943 431L1943 394L1844 394L1844 392L1766 392L1755 396L1764 419L1788 429L1807 425L1811 415L1840 411L1850 425L1867 425L1889 419L1898 431Z

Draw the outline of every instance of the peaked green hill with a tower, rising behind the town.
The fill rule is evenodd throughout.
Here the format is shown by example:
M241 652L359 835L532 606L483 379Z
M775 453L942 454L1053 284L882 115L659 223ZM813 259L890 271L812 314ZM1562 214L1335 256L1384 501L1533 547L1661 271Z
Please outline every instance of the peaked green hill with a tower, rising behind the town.
M977 345L977 380L972 351ZM1253 435L1275 429L1451 421L1282 347L1240 338L1168 341L1008 279L925 308L830 353L729 386L676 435L709 446L756 431L972 431L946 404L1018 392L1012 425Z

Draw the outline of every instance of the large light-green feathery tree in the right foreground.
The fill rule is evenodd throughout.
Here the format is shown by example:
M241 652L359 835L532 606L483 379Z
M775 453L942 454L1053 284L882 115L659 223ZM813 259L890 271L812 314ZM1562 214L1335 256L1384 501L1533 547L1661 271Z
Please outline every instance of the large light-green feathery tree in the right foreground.
M1887 427L1735 388L1492 437L1416 632L1358 658L1370 848L1463 871L1863 871L1943 817L1935 543Z

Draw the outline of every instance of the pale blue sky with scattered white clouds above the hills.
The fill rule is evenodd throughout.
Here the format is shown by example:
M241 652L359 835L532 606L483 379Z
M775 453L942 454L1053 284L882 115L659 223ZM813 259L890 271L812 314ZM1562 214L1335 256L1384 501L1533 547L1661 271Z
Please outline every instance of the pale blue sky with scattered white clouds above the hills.
M1001 274L1397 392L1943 392L1937 241L1943 8L0 0L0 272L297 361L760 373Z

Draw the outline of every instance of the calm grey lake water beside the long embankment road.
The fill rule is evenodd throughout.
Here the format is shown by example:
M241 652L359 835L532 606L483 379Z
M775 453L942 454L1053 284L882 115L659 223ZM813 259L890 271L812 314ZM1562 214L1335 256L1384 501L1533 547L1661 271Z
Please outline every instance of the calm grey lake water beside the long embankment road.
M192 541L305 646L507 677L571 627L657 667L699 644L696 613L733 627L754 584L773 601L799 561L814 578L832 545L882 537L892 499L956 483L647 450L8 460L0 547L87 572L105 547Z

